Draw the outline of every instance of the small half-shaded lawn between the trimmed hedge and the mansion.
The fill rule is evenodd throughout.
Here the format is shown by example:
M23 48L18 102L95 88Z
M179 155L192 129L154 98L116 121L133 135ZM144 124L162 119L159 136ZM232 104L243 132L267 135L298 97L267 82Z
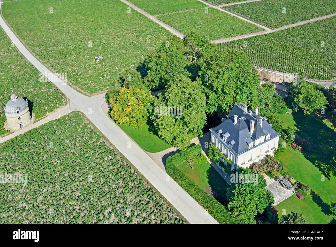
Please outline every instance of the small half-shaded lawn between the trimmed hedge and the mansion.
M208 192L208 194L209 192L214 194L214 197L221 203L226 203L225 194L228 184L209 162L194 165L193 169L186 162L176 167L192 179L201 189Z

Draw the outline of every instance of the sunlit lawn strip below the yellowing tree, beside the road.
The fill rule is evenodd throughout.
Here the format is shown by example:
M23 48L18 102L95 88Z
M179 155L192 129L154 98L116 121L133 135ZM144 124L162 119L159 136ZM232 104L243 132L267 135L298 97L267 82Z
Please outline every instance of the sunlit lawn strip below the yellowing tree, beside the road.
M171 148L167 142L149 131L149 125L144 124L142 129L135 129L129 125L118 124L144 151L157 153Z

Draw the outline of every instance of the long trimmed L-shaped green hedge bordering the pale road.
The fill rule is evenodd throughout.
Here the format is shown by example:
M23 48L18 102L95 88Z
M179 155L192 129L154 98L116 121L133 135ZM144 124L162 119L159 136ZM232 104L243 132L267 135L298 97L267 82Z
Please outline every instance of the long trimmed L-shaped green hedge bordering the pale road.
M196 145L183 152L169 156L166 160L166 172L168 175L171 176L179 186L192 196L202 207L208 209L208 212L218 221L218 223L244 223L241 220L234 218L222 204L198 187L193 180L188 178L176 167L176 165L185 161L186 155L190 152L199 155L201 153L201 146Z

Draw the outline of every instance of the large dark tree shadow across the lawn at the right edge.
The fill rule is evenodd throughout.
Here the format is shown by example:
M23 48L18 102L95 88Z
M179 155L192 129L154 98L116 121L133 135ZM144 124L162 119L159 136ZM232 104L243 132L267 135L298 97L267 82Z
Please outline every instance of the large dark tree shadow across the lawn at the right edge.
M296 134L299 142L303 143L303 156L330 180L332 176L336 176L336 164L332 159L335 130L323 122L324 116L315 113L307 122L302 112L293 113L293 118L295 127L298 128Z

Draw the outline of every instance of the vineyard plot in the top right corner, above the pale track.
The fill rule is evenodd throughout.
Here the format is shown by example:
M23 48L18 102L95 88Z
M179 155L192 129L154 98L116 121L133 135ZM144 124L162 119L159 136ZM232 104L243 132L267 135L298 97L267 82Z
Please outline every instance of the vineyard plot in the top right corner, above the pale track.
M278 28L336 13L336 0L263 0L225 8L271 28Z

